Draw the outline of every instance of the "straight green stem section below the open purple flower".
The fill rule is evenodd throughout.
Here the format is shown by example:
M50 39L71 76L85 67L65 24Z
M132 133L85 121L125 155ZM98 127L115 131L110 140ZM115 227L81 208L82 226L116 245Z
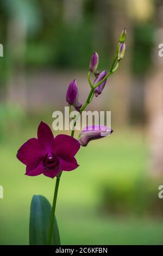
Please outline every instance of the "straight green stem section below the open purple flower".
M52 241L55 208L56 208L56 203L57 203L57 194L58 194L58 187L59 187L59 181L60 181L61 174L62 174L62 172L60 172L60 174L57 176L57 180L55 183L53 206L52 206L51 220L50 220L50 225L49 225L48 242L47 242L48 245L51 245L51 241Z

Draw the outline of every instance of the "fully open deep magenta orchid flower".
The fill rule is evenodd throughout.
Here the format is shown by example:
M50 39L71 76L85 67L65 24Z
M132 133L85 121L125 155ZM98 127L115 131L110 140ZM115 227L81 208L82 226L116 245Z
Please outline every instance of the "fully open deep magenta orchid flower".
M17 158L26 164L26 175L44 174L50 178L62 170L74 170L79 165L74 158L80 144L68 135L54 138L50 127L41 122L37 130L37 139L31 138L17 151Z

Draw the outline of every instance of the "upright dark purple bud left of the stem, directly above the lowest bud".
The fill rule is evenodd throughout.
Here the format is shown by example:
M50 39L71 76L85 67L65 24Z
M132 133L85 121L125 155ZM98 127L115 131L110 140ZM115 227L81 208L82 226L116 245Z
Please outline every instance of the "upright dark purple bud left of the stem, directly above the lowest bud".
M78 87L77 81L75 79L68 86L66 101L69 105L74 106L74 108L76 108L77 111L80 111L82 103L78 101Z

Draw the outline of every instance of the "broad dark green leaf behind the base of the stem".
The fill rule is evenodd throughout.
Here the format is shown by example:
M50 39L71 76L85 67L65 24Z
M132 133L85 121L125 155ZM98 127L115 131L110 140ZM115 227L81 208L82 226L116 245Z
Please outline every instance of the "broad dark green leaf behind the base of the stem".
M43 196L33 196L30 206L29 245L47 245L52 206ZM57 220L54 218L51 245L60 245Z

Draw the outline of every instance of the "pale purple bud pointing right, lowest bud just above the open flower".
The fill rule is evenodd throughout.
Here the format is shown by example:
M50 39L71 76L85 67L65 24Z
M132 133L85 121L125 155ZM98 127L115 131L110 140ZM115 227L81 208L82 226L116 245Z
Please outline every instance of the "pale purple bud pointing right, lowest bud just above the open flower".
M86 126L85 129L80 133L79 143L85 147L90 141L94 139L101 139L109 136L113 130L110 127L104 125L92 125Z

